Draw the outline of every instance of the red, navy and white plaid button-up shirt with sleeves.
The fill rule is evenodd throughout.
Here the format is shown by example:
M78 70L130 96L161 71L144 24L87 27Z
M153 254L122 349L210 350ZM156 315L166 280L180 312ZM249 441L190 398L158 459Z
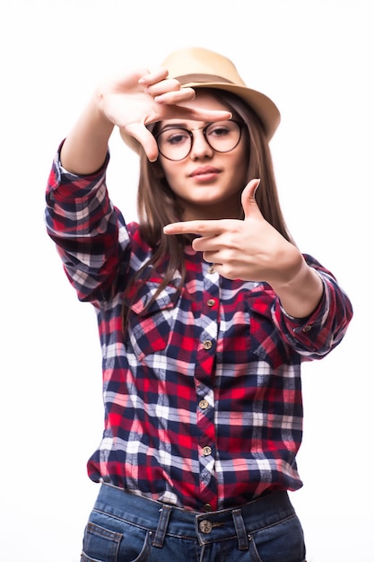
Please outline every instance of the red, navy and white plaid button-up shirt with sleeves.
M325 292L309 318L296 320L269 285L220 277L186 247L177 304L170 285L143 314L161 282L152 269L130 303L124 340L126 281L152 249L111 204L105 168L75 176L57 157L47 191L48 233L79 299L98 314L105 429L90 478L195 511L301 487L300 363L341 341L352 316L347 296L306 255Z

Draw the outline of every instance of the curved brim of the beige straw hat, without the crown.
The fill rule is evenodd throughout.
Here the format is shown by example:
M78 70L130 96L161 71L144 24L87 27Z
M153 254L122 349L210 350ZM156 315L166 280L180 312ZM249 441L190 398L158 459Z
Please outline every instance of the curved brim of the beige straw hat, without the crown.
M261 120L267 141L274 136L280 121L281 114L274 104L264 93L252 90L247 86L239 86L233 83L218 83L218 82L188 82L183 83L182 88L194 88L194 90L201 88L213 88L215 90L223 90L237 95L241 100L245 101L248 106L255 111L258 118ZM141 146L134 136L127 135L123 129L120 129L122 140L132 150L139 154Z

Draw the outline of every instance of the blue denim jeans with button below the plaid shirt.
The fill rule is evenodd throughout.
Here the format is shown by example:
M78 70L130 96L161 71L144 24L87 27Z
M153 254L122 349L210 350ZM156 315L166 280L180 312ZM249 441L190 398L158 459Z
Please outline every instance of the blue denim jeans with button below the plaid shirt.
M202 514L103 484L81 562L305 562L305 547L286 492Z

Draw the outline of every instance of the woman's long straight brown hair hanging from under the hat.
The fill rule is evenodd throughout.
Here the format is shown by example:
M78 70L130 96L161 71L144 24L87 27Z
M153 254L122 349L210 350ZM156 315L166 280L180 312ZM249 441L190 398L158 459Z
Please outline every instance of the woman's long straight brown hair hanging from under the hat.
M204 91L211 92L218 101L221 101L232 113L233 119L239 119L244 123L244 133L248 145L247 182L253 178L261 179L261 186L257 189L256 195L261 213L265 220L272 224L286 240L294 243L283 218L274 179L273 161L260 119L238 96L222 90L204 88ZM157 123L152 127L153 133L157 132L157 127ZM246 185L247 183L243 185L243 189ZM177 270L181 275L177 288L179 292L182 289L186 275L184 247L187 241L183 236L167 236L163 233L165 224L180 221L182 213L173 191L162 174L161 163L159 161L149 162L143 151L140 156L137 212L140 233L144 241L152 248L153 254L152 258L130 280L126 294L129 294L135 283L140 282L142 285L146 282L146 278L144 278L146 268L148 271L152 268L160 268L159 274L161 273L163 280L158 291L148 303L149 307L165 286L172 283L172 278ZM243 215L238 218L242 219ZM125 327L128 314L126 308L125 306Z

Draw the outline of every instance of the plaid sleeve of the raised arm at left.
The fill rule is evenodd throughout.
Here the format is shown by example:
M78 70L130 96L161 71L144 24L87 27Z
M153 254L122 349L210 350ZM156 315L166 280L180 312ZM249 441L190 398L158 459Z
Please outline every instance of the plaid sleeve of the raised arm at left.
M65 171L59 154L48 178L47 232L78 298L98 306L126 267L129 242L124 218L106 186L109 154L99 171L85 176Z

